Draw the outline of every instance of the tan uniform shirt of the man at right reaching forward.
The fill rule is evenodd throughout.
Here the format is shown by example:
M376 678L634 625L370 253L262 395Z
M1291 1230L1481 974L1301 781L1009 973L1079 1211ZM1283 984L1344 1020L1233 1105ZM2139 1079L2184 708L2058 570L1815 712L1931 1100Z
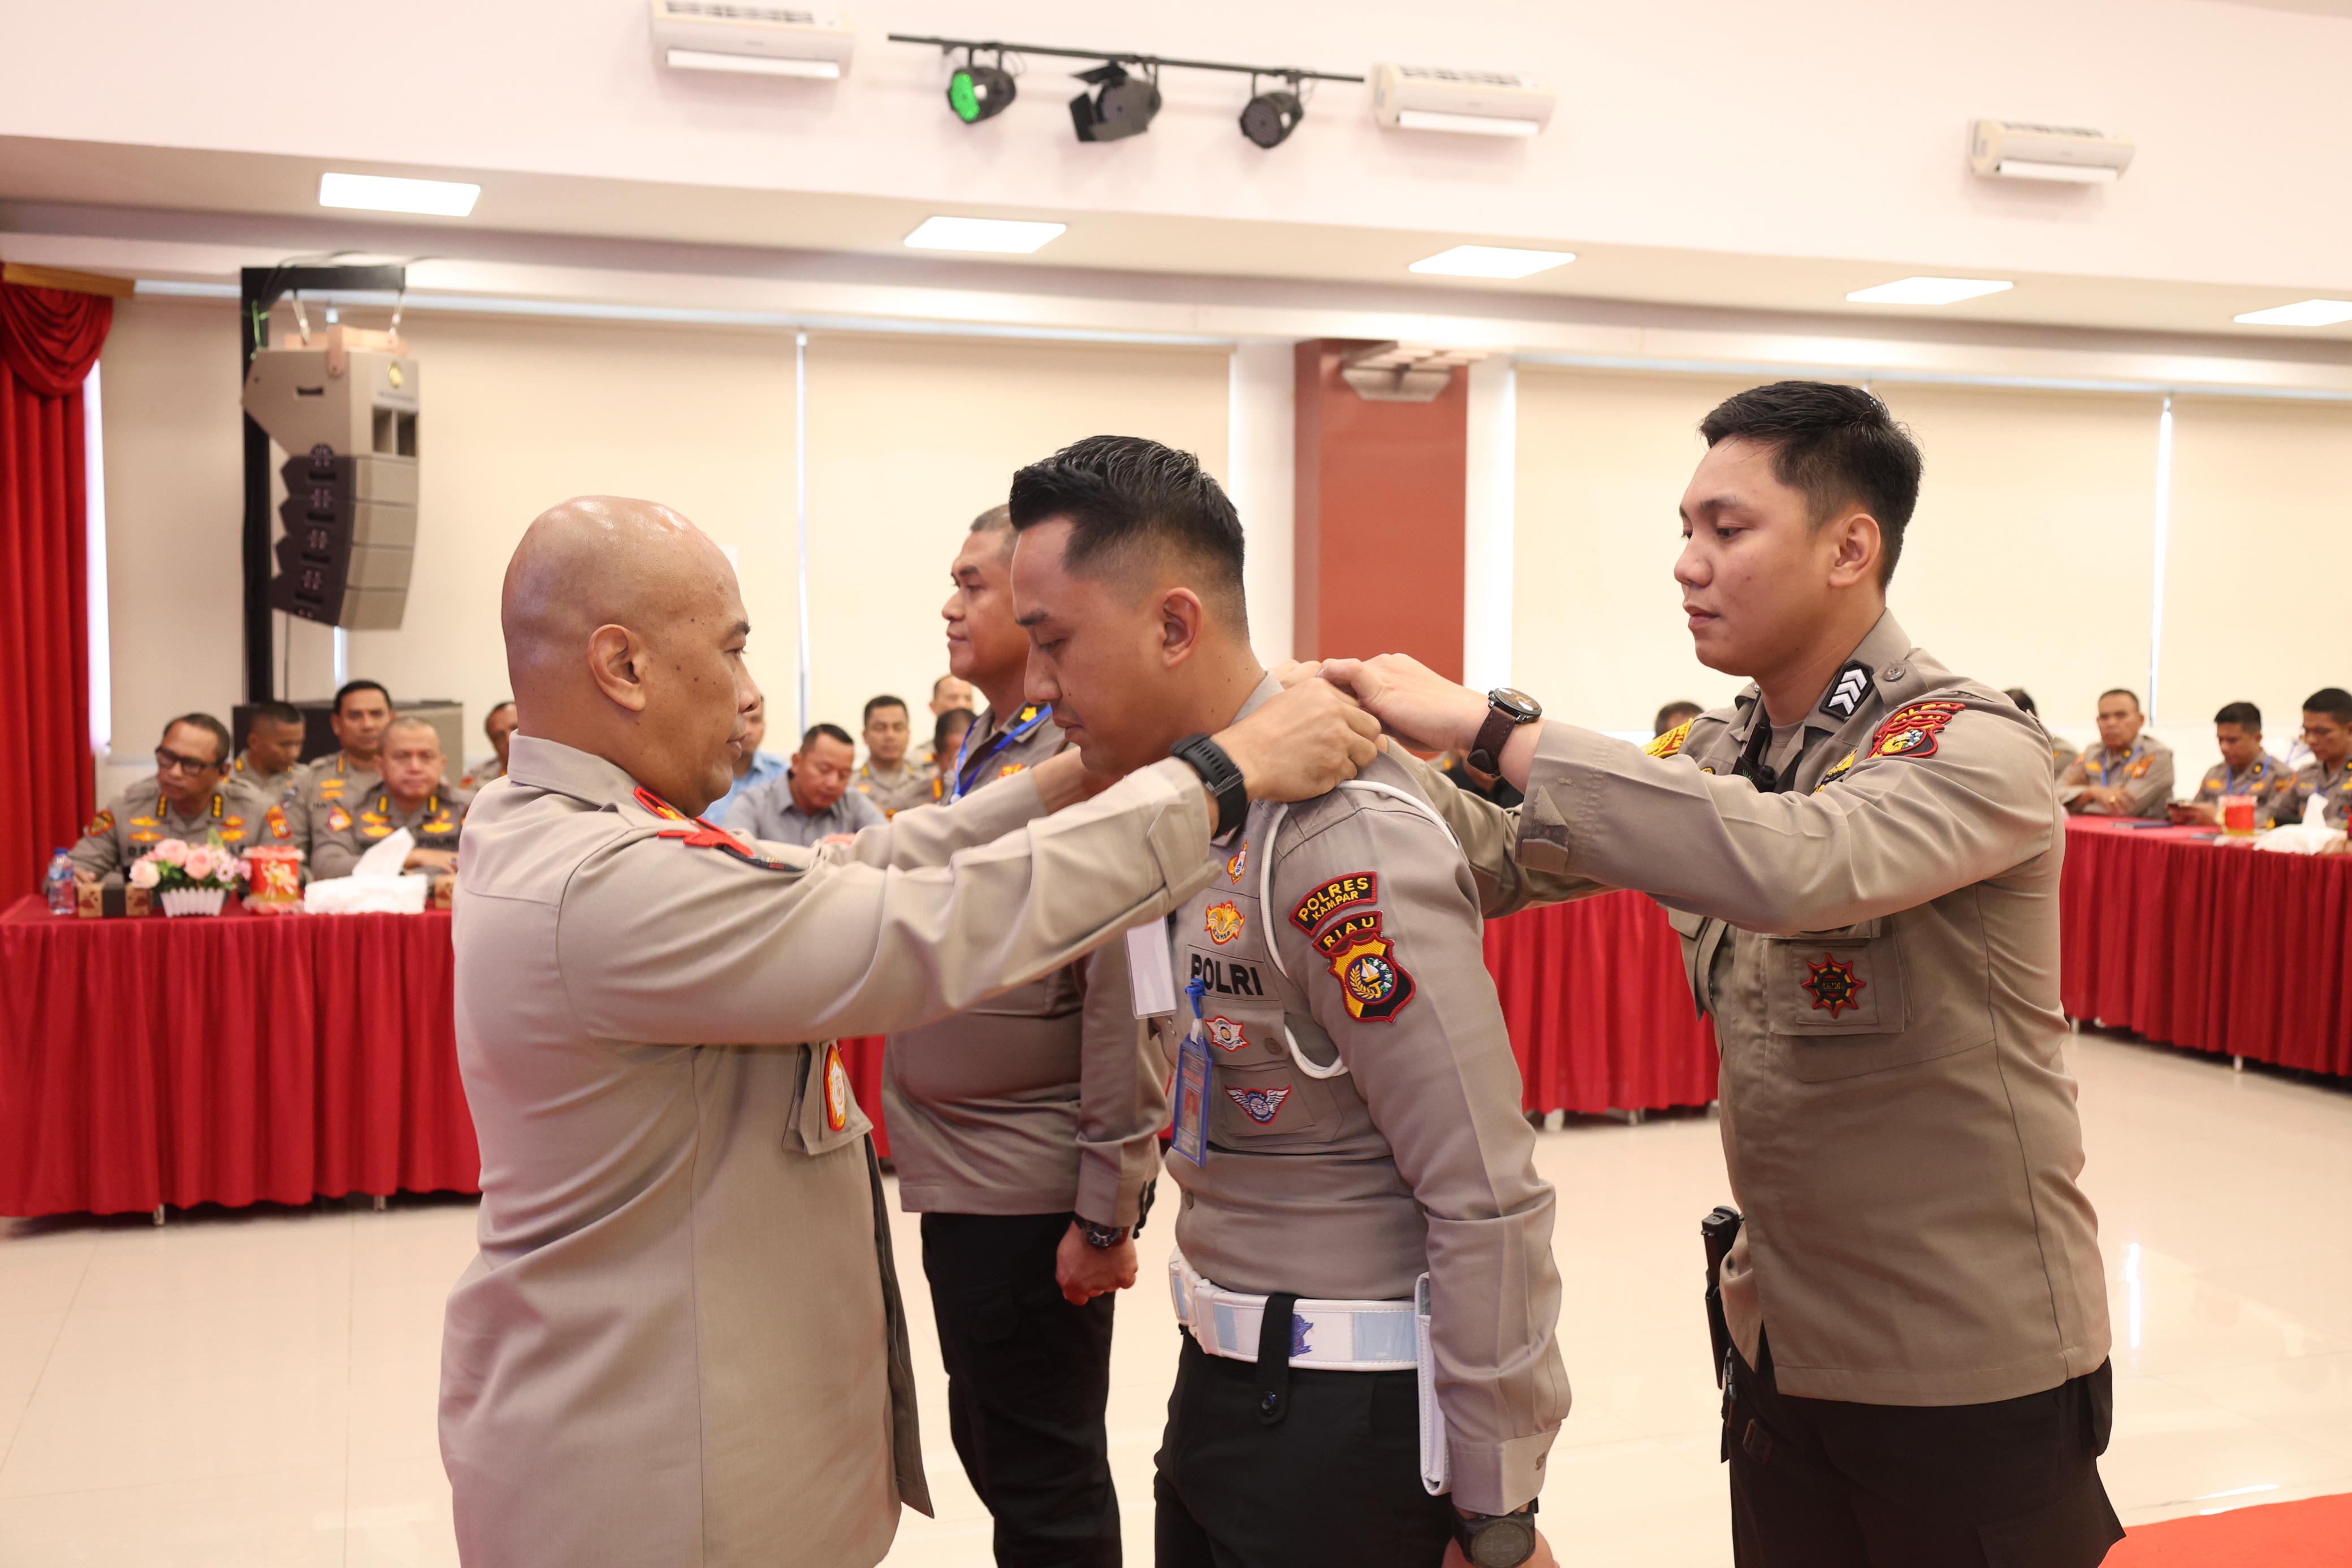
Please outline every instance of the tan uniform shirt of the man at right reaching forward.
M1893 616L1769 790L1743 776L1759 710L1748 686L1656 755L1545 722L1522 811L1432 799L1489 914L1611 886L1665 905L1722 1051L1748 1215L1724 1312L1750 1366L1769 1326L1778 1387L1811 1399L1987 1403L2082 1378L2107 1359L2107 1293L2042 729Z

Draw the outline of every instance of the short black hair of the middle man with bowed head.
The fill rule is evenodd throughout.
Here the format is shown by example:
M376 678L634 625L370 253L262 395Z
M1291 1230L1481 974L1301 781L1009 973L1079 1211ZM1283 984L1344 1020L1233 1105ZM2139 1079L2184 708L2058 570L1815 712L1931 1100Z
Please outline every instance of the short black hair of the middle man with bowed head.
M1225 602L1232 632L1249 635L1242 517L1190 451L1141 435L1089 435L1016 473L1007 510L1016 531L1068 522L1063 559L1073 571L1134 550L1181 555L1200 588Z

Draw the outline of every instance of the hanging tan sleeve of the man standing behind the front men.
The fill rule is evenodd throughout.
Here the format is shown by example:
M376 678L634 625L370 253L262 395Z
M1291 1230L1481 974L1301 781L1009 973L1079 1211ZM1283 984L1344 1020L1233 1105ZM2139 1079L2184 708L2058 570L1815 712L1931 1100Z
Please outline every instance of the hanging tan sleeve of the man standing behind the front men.
M1077 1215L1096 1225L1134 1225L1145 1182L1160 1175L1160 1128L1169 1119L1167 1056L1157 1034L1136 1018L1127 943L1089 952L1080 961L1080 983Z

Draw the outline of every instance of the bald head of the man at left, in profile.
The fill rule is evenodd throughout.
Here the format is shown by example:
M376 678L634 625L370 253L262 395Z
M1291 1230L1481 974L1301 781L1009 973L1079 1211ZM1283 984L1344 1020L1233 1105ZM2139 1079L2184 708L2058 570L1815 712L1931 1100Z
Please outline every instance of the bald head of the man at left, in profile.
M757 686L727 555L666 505L576 496L515 545L499 602L522 731L619 764L684 811L734 780Z

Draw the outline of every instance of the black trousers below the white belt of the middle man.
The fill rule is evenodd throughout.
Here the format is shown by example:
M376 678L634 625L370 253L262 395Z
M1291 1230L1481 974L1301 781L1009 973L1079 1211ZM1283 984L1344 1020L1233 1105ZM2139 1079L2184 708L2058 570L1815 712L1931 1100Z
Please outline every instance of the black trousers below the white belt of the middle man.
M1291 1368L1287 1335L1279 1349L1279 1366L1232 1361L1183 1335L1157 1568L1437 1568L1451 1500L1421 1488L1414 1373Z

